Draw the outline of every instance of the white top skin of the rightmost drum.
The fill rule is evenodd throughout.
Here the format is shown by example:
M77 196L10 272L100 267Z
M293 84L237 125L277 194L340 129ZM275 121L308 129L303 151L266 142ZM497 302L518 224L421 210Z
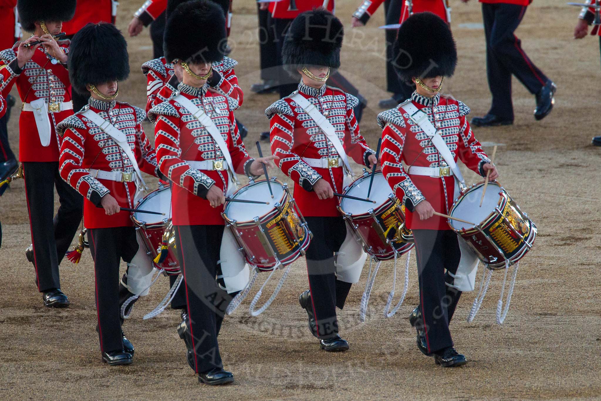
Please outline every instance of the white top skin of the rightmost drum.
M451 216L471 221L474 224L480 224L495 210L495 206L499 203L499 189L498 184L488 183L482 207L480 207L480 199L482 198L484 185L470 189L460 198L459 203L453 207ZM456 220L451 220L451 225L455 230L467 228L465 223Z

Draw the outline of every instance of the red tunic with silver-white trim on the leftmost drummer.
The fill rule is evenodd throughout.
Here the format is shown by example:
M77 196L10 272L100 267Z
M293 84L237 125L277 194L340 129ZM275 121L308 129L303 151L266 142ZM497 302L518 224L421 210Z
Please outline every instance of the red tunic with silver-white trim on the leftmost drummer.
M88 108L100 117L109 120L127 136L136 163L141 171L157 175L156 155L142 129L146 113L141 108L128 103L104 102L91 98ZM81 112L66 118L58 124L58 132L63 135L59 171L63 180L69 183L85 198L84 224L86 228L129 227L133 225L131 213L119 212L107 216L105 209L96 207L100 198L111 194L121 207L135 207L133 197L136 185L133 182L117 182L96 179L88 170L123 171L134 173L132 161L96 124L85 118Z

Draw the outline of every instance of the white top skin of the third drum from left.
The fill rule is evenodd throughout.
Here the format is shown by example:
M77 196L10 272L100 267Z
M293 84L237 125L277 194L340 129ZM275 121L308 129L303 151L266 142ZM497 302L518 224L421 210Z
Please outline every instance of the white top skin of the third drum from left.
M361 177L344 195L350 195L352 197L363 199L367 198L367 190L370 188L370 179L371 174L367 177ZM362 215L363 213L367 213L367 210L375 209L377 206L385 203L390 194L392 194L392 189L390 189L390 186L388 185L388 182L384 178L383 174L378 172L374 176L374 183L371 186L370 192L370 200L374 200L376 203L341 198L340 207L345 213Z

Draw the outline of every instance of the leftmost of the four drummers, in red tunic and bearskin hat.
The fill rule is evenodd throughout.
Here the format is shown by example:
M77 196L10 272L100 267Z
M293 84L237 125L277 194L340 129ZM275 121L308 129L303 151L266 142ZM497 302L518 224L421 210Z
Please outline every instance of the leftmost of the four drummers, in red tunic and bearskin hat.
M69 74L73 88L87 91L90 99L58 124L63 135L60 173L85 198L102 360L109 365L130 364L134 350L121 331L119 262L128 263L129 274L130 269L144 269L151 275L153 266L139 245L130 212L120 208L135 207L145 189L140 170L156 176L156 157L142 129L146 113L115 100L118 81L129 75L129 58L127 43L114 25L90 23L75 34Z

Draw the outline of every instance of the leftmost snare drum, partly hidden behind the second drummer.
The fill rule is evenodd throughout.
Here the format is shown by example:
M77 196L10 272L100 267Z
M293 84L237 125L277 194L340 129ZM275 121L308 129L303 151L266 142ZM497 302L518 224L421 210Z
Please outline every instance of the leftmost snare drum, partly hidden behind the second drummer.
M166 274L180 274L180 266L175 256L175 236L171 225L171 188L159 185L159 189L138 201L136 209L165 213L165 216L160 216L134 212L132 221L141 234L146 253L152 259L160 253L163 234L165 234L164 239L169 244L168 255L162 263L154 263L154 265L157 269L164 269Z

